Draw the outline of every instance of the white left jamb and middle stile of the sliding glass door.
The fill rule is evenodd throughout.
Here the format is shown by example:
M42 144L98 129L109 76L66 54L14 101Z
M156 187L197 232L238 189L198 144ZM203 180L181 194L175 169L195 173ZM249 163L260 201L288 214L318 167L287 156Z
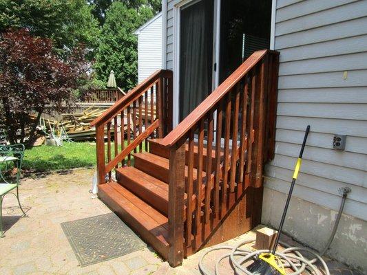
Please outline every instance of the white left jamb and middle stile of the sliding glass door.
M180 122L180 13L184 6L193 5L202 0L176 0L174 1L174 30L173 30L173 68L174 68L174 91L173 91L173 126L176 127ZM213 14L213 64L219 63L219 35L220 35L220 1L214 1ZM219 15L218 15L219 14ZM212 87L218 87L218 69L212 72Z

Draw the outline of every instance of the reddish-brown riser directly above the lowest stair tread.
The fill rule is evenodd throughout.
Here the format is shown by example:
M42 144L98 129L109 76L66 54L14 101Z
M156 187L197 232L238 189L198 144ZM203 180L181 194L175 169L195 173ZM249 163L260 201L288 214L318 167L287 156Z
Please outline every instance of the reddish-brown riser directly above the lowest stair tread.
M120 173L116 173L116 179L119 184L129 189L135 195L146 201L151 206L159 210L160 212L168 215L168 200L156 195L155 192L152 192L149 188L145 188L145 186L141 186L134 179L130 179L129 177L125 177L125 175L121 175Z

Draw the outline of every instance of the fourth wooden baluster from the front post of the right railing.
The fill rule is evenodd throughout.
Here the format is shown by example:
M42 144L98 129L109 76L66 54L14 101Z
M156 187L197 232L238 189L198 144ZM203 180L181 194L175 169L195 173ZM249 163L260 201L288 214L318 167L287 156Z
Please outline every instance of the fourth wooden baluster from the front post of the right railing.
M217 109L217 125L216 125L216 182L214 184L214 216L218 218L220 203L219 203L219 183L221 168L221 151L222 151L222 120L223 120L223 100L218 103Z

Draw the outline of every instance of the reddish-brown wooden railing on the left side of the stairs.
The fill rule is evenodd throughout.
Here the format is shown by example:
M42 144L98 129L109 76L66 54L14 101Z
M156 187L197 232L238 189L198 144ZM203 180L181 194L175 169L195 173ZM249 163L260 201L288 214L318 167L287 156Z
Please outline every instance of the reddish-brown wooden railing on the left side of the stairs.
M132 153L147 148L149 137L162 138L171 131L171 114L172 72L161 69L91 122L96 128L98 184L112 181L114 168L131 166Z

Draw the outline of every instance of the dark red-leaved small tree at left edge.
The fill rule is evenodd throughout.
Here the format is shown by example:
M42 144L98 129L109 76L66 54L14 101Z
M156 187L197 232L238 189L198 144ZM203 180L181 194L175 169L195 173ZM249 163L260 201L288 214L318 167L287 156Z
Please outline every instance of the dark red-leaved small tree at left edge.
M11 143L34 137L46 105L64 111L74 101L73 91L86 77L83 49L59 58L51 39L34 37L28 30L2 34L0 41L0 116ZM29 113L38 113L30 120Z

